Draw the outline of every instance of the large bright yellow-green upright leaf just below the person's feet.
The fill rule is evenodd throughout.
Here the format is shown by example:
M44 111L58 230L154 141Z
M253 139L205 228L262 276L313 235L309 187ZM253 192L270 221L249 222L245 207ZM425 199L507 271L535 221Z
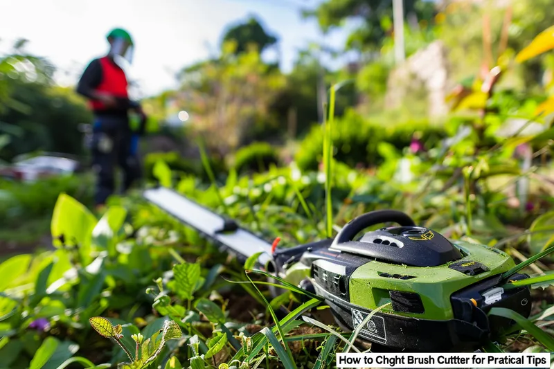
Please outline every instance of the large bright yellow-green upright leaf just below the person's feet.
M62 244L78 245L81 258L88 264L91 260L89 251L92 230L97 222L96 217L83 204L62 193L57 198L52 215L53 245L56 247Z

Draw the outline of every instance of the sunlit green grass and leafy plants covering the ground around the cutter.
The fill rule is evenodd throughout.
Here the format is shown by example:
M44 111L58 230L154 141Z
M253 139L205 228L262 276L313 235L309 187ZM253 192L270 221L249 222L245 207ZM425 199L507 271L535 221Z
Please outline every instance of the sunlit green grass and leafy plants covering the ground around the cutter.
M409 209L406 212L416 222L432 223L449 237L471 235L475 242L498 242L504 251L515 250L512 255L524 262L523 271L537 274L533 282L545 289L533 290L536 318L522 320L494 310L493 314L513 318L526 332L508 335L499 345L489 343L484 350L551 350L554 294L552 279L544 271L552 269L552 263L533 260L524 237L513 237L526 231L524 221L530 215L506 206L508 191L499 193L517 177L469 178L443 190L450 178L429 171L433 163L415 170L412 183L341 165L334 161L330 135L335 92L331 90L322 127L322 172L296 175L293 168L274 168L250 177L231 174L220 183L203 147L207 183L192 175L172 177L163 162L156 172L163 183L187 197L233 215L268 240L281 237L287 246L332 236L337 224L378 208ZM453 155L467 159L463 152ZM383 168L397 165L397 158L391 157ZM548 166L538 171L551 173ZM553 191L534 182L533 195L553 198ZM67 208L60 205L53 219L55 228L67 236L57 251L39 250L32 256L29 252L0 264L0 273L7 276L0 280L5 291L0 296L0 330L6 338L0 341L0 362L6 367L25 369L32 361L54 369L70 363L91 367L128 362L123 368L141 369L148 356L152 368L320 369L332 366L337 352L370 350L367 342L357 340L358 332L337 329L321 298L279 278L274 279L280 293L271 294L267 281L273 277L250 271L253 259L243 264L222 253L136 193L111 201L111 206L127 211L125 219L110 216L120 213L119 208L105 213L100 222L89 217L86 206L65 200ZM547 210L552 208L542 211ZM512 228L489 222L488 217L511 219ZM4 228L0 238L32 242L36 237L31 235L48 232L49 222L33 218L21 227ZM508 237L512 238L499 242ZM49 325L44 331L29 328L42 318ZM96 322L94 329L91 321ZM71 351L70 346L77 349Z

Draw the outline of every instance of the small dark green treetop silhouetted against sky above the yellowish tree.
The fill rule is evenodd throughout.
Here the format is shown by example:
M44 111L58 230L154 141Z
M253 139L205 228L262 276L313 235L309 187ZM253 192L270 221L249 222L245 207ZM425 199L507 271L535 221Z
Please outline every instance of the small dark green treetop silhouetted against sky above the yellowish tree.
M266 32L256 17L249 17L244 23L232 26L223 37L223 44L236 42L236 54L244 53L255 46L261 54L266 48L276 44L277 37Z

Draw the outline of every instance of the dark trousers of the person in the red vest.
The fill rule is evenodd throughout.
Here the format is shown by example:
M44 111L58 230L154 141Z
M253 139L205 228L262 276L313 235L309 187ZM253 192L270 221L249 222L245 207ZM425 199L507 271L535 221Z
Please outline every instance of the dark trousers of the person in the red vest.
M115 192L115 170L123 171L123 191L141 178L141 165L132 146L126 116L96 117L92 135L92 160L96 172L96 205L105 204Z

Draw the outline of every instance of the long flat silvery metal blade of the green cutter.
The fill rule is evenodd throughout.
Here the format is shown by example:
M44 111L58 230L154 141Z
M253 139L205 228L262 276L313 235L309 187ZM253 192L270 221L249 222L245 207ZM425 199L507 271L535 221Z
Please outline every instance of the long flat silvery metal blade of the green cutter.
M231 249L245 258L262 252L258 258L258 264L265 267L268 261L272 261L271 244L262 240L240 227L233 231L222 233L226 226L226 219L221 215L213 213L204 206L187 199L184 195L169 188L158 187L145 190L143 197L152 204L166 211L168 214L179 219L179 221L195 228L205 237L210 238Z

